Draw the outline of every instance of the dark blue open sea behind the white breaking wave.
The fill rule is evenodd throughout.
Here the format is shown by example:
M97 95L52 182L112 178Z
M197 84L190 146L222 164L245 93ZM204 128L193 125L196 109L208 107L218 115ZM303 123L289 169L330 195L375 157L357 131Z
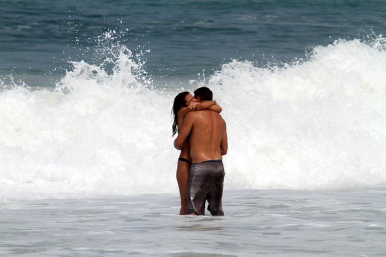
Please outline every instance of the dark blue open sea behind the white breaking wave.
M156 81L184 80L233 58L288 62L339 38L386 34L385 13L374 0L1 0L0 76L53 86L68 61L100 65L126 45Z

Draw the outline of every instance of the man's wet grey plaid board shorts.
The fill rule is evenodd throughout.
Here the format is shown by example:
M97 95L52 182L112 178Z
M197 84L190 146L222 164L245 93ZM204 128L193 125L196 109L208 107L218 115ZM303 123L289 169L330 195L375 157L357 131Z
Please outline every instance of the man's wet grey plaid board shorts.
M224 176L222 160L192 163L186 189L187 212L200 214L201 206L207 200L213 216L224 215L221 202Z

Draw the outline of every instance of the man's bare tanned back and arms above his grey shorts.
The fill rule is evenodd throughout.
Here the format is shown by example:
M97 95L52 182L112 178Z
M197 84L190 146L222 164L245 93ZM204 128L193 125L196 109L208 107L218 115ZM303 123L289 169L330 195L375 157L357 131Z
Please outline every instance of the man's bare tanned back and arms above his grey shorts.
M212 110L201 110L186 114L181 131L174 142L182 147L190 134L190 156L192 162L221 160L227 152L226 124L221 115Z

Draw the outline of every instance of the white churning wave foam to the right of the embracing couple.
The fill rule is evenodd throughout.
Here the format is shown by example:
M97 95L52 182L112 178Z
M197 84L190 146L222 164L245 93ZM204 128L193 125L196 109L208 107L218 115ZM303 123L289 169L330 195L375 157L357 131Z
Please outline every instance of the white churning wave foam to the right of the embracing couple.
M223 65L209 85L231 135L227 179L251 188L386 184L384 42L336 41L285 68Z

